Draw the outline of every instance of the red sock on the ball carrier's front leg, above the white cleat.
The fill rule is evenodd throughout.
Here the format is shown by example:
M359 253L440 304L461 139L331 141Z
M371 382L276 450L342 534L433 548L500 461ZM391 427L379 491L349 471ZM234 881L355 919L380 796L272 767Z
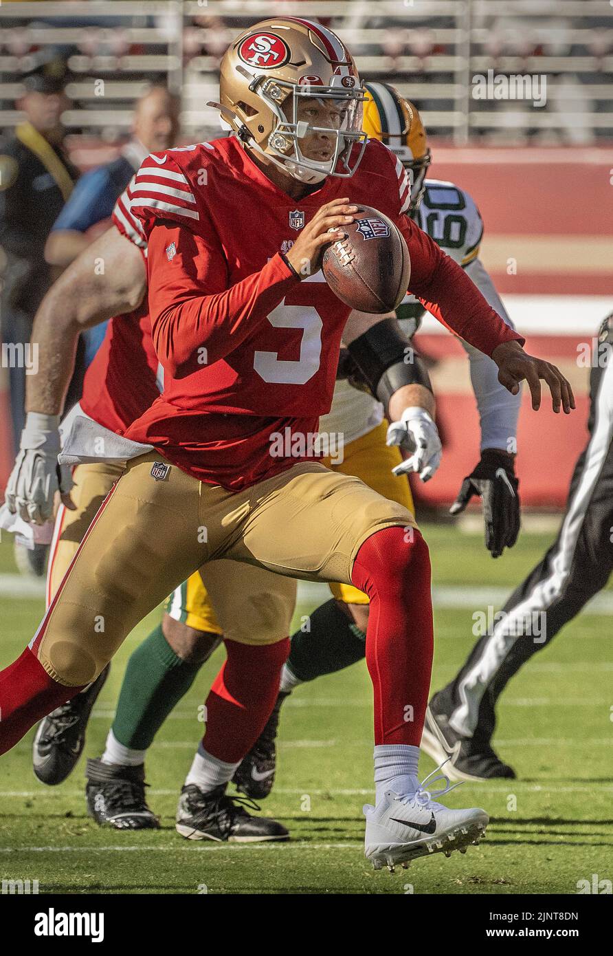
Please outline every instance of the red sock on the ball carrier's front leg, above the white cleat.
M375 532L357 553L351 581L370 597L374 743L419 747L433 662L428 546L414 529Z

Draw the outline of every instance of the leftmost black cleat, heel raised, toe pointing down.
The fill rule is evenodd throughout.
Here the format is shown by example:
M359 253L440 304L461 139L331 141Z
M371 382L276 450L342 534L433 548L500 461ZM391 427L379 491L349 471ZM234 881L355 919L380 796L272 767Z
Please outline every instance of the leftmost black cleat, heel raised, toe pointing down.
M41 720L32 747L32 768L41 783L53 787L74 771L85 746L85 729L98 694L109 676L110 664L94 684Z

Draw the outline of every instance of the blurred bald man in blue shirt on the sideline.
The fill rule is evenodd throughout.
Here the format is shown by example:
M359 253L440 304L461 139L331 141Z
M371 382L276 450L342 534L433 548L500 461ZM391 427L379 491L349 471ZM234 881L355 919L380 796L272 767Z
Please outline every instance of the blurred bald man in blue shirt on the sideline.
M149 153L176 145L179 111L179 98L170 94L165 86L153 86L137 100L130 141L111 163L97 166L81 177L55 220L45 246L45 258L50 265L65 269L96 236L109 228L116 200L140 163ZM103 322L81 336L82 360L77 363L65 411L80 398L83 374L100 347L106 326Z

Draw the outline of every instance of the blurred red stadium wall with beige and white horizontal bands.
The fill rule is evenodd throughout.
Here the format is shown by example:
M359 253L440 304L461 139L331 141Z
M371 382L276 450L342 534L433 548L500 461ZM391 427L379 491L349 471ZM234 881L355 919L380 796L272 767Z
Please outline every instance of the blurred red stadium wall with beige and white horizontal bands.
M75 155L79 165L108 159L108 147L88 146ZM578 366L577 345L589 341L613 309L613 152L434 146L433 153L431 174L468 189L479 206L485 223L481 258L528 348L560 364L576 389L578 411L572 416L550 409L536 414L524 396L519 421L523 501L561 506L586 436L589 370ZM433 505L454 499L478 455L468 361L441 331L426 322L419 339L438 362L433 381L445 454L433 481L413 487ZM12 460L6 387L6 377L0 377L0 489Z

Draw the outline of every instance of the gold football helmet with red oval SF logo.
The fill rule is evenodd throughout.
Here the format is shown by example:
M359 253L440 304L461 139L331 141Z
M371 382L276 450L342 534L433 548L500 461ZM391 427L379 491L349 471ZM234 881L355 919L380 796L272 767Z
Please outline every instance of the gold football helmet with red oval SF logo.
M308 98L315 98L319 115L331 117L332 125L299 118L299 105ZM327 176L352 176L360 163L368 139L362 132L364 98L353 57L335 33L310 20L280 16L232 42L222 58L221 102L209 105L220 110L248 149L303 183L318 183ZM329 158L309 159L300 141L318 132L330 135L333 148Z

